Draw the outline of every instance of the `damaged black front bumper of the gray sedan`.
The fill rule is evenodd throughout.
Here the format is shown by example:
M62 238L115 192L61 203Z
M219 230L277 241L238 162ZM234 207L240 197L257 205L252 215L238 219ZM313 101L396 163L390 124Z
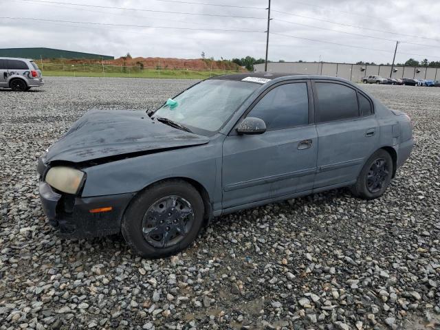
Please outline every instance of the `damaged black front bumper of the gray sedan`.
M55 192L45 181L39 184L40 199L50 224L65 238L90 238L120 232L120 223L133 193L77 197ZM111 208L107 212L90 212Z

